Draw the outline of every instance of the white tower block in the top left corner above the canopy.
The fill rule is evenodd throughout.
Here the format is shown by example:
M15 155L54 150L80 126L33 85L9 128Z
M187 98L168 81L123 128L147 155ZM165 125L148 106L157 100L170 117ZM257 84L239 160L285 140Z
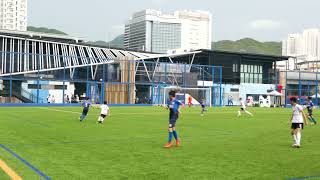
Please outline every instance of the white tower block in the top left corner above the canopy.
M27 30L27 0L0 0L0 29Z

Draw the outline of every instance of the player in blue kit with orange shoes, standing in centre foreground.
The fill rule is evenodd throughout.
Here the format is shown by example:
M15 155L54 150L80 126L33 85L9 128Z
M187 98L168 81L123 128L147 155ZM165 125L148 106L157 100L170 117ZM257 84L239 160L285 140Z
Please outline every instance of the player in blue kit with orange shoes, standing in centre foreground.
M165 144L165 146L164 146L165 148L172 147L172 138L173 137L176 139L176 146L180 145L180 139L179 139L177 131L176 131L176 122L179 118L180 109L183 106L183 104L176 99L176 92L175 91L169 92L169 98L170 98L170 101L167 106L167 108L170 110L169 138L168 138L168 143Z

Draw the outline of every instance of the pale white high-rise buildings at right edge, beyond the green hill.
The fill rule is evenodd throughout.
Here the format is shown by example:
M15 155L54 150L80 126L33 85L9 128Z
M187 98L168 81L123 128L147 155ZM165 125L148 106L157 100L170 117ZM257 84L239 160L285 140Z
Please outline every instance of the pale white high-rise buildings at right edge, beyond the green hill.
M320 29L306 29L301 34L289 34L282 42L282 55L293 57L287 63L290 70L320 69Z

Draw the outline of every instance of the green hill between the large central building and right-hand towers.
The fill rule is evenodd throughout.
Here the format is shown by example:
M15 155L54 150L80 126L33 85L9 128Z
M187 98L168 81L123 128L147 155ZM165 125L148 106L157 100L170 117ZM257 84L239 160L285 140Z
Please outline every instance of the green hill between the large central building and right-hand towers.
M281 42L259 42L245 38L238 41L218 41L212 43L212 49L232 52L246 52L268 55L281 55Z

